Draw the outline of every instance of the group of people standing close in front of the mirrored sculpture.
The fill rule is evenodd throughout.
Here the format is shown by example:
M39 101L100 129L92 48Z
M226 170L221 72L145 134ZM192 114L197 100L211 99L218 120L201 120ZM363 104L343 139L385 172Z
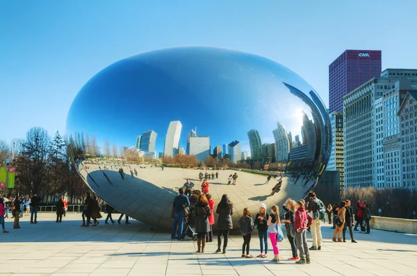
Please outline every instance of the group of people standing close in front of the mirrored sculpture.
M322 237L320 232L320 219L322 219L322 215L320 212L325 214L325 211L324 208L322 208L321 200L316 198L314 192L309 193L309 198L309 209L306 209L305 200L298 200L296 202L295 200L288 198L283 206L285 211L283 219L280 218L279 208L276 205L272 205L272 207L270 207L270 212L268 212L266 205L262 203L259 207L259 212L254 218L252 218L249 208L243 209L243 216L240 217L238 221L238 227L243 236L242 257L252 258L252 255L250 255L250 241L252 239L252 231L256 228L258 230L261 250L257 257L268 257L269 239L274 253L272 261L279 262L278 243L283 239L283 237L281 237L281 223L284 223L293 255L289 260L295 261L296 264L310 264L309 250L321 250ZM234 227L231 218L234 205L227 194L222 196L222 199L216 208L214 208L214 205L215 203L211 200L210 193L200 193L193 211L190 212L190 199L186 196L186 187L181 187L178 196L174 199L172 204L173 223L170 240L183 240L183 222L186 221L186 216L194 216L195 232L197 233L197 253L204 252L206 242L213 241L215 212L218 214L218 248L215 252L226 253L229 232ZM313 214L313 216L310 214ZM310 227L313 234L313 246L311 248L308 247L306 242L306 230Z

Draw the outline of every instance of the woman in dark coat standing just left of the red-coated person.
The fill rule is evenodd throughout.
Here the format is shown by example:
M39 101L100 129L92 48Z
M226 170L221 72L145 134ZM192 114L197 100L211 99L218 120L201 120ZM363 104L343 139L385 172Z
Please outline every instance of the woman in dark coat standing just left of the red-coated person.
M206 248L206 234L210 230L208 217L211 216L206 195L199 195L195 204L195 232L197 232L197 253L204 253ZM178 233L179 235L179 233ZM182 235L182 232L181 232Z

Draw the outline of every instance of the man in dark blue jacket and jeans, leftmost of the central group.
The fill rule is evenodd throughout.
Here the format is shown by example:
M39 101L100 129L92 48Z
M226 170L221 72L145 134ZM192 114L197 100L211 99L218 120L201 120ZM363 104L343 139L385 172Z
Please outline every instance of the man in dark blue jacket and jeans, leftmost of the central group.
M182 239L182 232L184 226L184 218L186 214L184 208L190 206L190 200L188 196L184 195L184 189L181 187L178 190L179 195L174 199L172 203L172 214L171 217L174 219L172 223L172 232L171 232L171 241L175 239L175 232L177 232L177 239L180 241Z

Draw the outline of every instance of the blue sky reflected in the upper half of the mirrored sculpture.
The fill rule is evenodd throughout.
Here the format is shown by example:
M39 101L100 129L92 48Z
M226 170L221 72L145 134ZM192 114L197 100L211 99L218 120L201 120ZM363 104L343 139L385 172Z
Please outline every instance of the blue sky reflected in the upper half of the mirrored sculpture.
M236 139L250 153L249 130L259 130L262 143L274 143L277 121L294 139L302 110L313 119L311 108L291 96L283 82L305 96L313 91L286 67L257 55L206 47L142 53L111 64L81 89L67 133L95 135L99 146L107 139L129 147L138 135L154 130L160 152L170 121L177 120L183 125L180 147L186 148L186 135L197 128L197 135L210 137L212 152Z

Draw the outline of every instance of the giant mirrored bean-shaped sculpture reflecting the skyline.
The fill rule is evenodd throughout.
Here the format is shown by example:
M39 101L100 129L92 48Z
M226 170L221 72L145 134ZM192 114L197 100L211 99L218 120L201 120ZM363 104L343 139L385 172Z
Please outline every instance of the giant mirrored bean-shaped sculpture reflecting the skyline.
M261 202L269 209L303 198L325 171L330 128L318 94L281 64L180 47L101 70L74 99L66 132L92 191L124 214L170 229L172 202L187 178L195 193L208 178L216 205L226 193L235 223L244 207L256 212ZM235 173L236 184L228 184Z

